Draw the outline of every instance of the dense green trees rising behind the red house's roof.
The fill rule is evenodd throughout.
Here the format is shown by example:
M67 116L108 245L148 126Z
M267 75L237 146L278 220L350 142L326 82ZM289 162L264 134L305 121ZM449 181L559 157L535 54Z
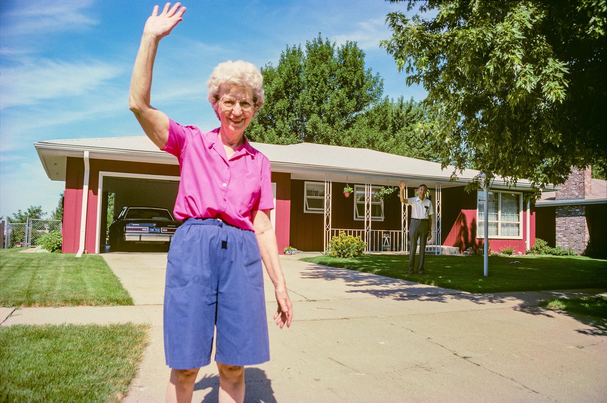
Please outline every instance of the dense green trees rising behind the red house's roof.
M436 159L435 139L415 136L428 119L418 102L382 98L383 79L365 68L356 42L319 35L287 46L276 66L262 67L265 106L246 131L251 141L316 142Z

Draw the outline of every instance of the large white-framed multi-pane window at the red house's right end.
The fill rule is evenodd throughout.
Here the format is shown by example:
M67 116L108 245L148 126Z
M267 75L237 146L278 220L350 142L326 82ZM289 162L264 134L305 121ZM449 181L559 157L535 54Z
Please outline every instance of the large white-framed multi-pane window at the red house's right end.
M487 228L490 238L523 239L523 198L520 193L489 192L487 206L489 222ZM476 215L476 238L484 238L484 192L478 191Z

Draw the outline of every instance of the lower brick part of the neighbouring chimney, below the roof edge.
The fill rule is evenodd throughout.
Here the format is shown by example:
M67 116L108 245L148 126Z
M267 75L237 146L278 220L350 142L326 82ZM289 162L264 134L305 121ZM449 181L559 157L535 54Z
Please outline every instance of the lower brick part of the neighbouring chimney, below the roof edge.
M572 248L578 254L583 253L590 240L586 206L577 204L557 207L556 216L557 246Z

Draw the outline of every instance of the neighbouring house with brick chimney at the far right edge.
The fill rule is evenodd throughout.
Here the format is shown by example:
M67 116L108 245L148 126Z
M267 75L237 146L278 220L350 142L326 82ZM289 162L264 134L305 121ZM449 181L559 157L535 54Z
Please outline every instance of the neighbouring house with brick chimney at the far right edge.
M605 256L607 182L591 179L591 168L572 168L557 192L544 192L535 203L537 238L551 247Z

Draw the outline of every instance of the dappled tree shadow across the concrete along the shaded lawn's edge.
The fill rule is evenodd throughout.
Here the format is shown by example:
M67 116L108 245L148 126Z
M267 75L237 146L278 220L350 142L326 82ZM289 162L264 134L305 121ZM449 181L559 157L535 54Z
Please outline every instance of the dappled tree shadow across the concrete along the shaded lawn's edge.
M550 308L539 307L538 302L544 299L553 299L563 296L569 298L587 296L591 294L571 293L566 291L514 291L505 293L471 294L449 288L435 287L420 284L404 279L395 279L381 275L365 273L363 271L347 268L336 268L320 264L310 264L302 273L303 278L325 279L327 281L343 281L348 287L357 289L347 290L346 293L365 293L377 298L390 298L395 301L429 301L448 303L458 300L473 302L474 304L511 304L512 309L530 315L541 315L555 318L556 311ZM594 291L594 290L589 290ZM599 290L596 290L599 291ZM514 305L512 305L514 304ZM505 305L507 306L507 305ZM607 321L592 316L579 315L566 311L558 311L563 315L571 316L578 322L590 328L577 329L578 333L592 336L607 336Z

